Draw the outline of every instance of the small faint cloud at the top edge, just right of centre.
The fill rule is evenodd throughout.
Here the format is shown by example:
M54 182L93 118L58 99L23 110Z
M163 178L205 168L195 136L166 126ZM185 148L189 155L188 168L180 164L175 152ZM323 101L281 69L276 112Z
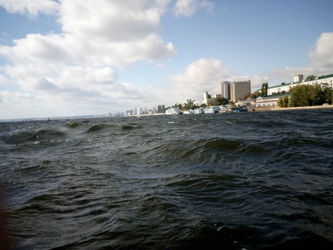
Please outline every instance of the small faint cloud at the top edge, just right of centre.
M202 8L211 13L215 4L207 0L177 0L173 13L175 16L193 16L197 9Z

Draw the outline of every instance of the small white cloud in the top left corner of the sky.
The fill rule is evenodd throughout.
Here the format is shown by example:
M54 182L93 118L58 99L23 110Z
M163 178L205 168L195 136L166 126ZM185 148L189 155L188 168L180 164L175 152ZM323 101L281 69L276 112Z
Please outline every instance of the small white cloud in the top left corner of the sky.
M9 13L20 13L30 18L39 13L54 15L59 9L59 3L52 0L0 0L0 6Z

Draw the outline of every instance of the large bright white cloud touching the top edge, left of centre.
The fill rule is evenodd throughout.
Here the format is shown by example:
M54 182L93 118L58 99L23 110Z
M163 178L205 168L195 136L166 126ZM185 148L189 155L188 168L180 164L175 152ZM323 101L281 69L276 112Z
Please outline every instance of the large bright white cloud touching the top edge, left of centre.
M79 37L108 41L145 39L160 28L168 1L85 0L61 2L62 30Z

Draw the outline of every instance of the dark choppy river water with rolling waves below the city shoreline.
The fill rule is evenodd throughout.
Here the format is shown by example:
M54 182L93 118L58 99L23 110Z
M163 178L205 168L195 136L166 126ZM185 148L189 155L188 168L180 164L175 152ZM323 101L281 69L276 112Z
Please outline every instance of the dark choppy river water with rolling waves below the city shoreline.
M16 249L332 249L333 110L0 123Z

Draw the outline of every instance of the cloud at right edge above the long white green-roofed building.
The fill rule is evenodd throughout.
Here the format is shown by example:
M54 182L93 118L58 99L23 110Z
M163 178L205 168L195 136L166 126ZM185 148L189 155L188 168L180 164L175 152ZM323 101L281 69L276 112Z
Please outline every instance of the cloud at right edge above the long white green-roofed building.
M303 68L285 67L272 70L271 74L275 77L289 78L303 74L308 75L326 75L331 74L333 69L333 32L322 33L314 48L309 51L309 63Z

